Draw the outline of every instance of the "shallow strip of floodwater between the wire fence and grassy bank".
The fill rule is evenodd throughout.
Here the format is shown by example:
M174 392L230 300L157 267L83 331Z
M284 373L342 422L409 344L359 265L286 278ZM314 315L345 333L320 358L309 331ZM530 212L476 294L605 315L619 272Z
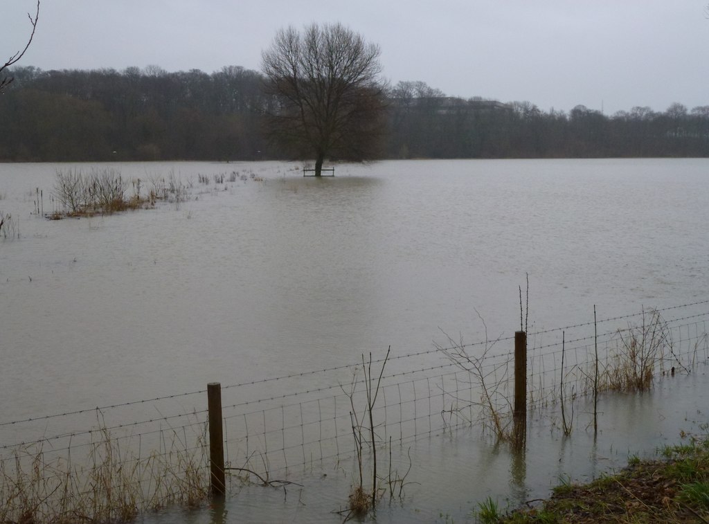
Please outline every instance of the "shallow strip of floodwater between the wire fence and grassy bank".
M521 454L510 452L508 445L481 439L478 428L441 432L408 442L396 464L400 472L408 468L409 456L413 464L403 497L391 501L387 494L376 509L376 519L364 521L473 523L474 510L487 497L504 511L545 498L554 486L564 482L591 481L625 467L631 456L657 458L662 446L688 442L681 438L681 431L707 434L703 425L707 421L703 400L707 386L709 377L702 371L661 379L651 393L602 400L596 437L588 427L587 414L593 409L590 401L576 406L576 417L582 421L574 422L569 437L564 437L559 428L558 411L532 416L526 450ZM345 509L356 468L352 461L331 462L287 476L296 485L286 489L241 486L223 505L146 515L141 523L340 523L347 513L337 511Z

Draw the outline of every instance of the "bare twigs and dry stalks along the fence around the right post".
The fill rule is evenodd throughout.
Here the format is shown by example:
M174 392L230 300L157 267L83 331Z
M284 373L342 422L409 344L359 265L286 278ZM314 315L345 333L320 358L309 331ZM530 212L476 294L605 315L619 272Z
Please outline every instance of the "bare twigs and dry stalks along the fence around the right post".
M444 423L457 418L478 425L497 442L512 442L516 434L512 406L513 357L511 353L493 353L493 347L501 337L490 340L484 319L479 313L478 316L485 330L483 344L466 344L462 338L456 340L445 332L442 332L447 339L444 344L434 342L437 350L467 372L471 389L479 394L479 398L473 400L447 393L450 407L446 406L441 415ZM523 323L522 318L520 323ZM596 323L593 325L595 329ZM548 375L543 369L543 359L538 364L539 371L527 375L527 409L531 411L557 404L560 408L559 428L567 437L571 435L574 423L578 424L576 407L581 398L593 398L592 424L597 427L596 402L600 395L642 393L652 389L657 377L688 374L697 355L706 353L709 347L709 336L698 334L693 349L690 347L687 352L685 348L680 354L672 340L670 323L654 309L643 309L636 322L603 335L602 341L594 335L592 344L585 347L586 359L583 353L579 358L578 352L574 351L571 364L564 338L562 332L560 366L554 372L556 384L551 388L545 385ZM540 356L533 348L527 355L529 373L535 368L535 358ZM554 368L558 365L556 358Z

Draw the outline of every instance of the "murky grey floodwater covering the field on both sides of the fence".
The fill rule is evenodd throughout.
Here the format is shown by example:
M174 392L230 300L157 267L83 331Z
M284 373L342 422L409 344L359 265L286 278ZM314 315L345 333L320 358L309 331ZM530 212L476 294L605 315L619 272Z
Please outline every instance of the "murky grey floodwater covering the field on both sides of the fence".
M527 274L530 331L592 321L593 306L613 318L709 298L705 159L391 161L323 179L284 162L127 163L112 167L143 194L172 176L189 200L38 216L57 206L56 170L73 167L91 165L0 165L0 212L19 232L0 236L0 422L338 367L389 345L424 352L444 332L484 340L479 316L506 337ZM705 385L700 369L608 400L597 440L586 419L564 440L558 416L539 415L526 457L477 428L414 440L418 484L377 520L459 522L488 495L543 496L560 475L652 452L698 430ZM242 487L180 518L336 522L354 469L320 468L287 494Z

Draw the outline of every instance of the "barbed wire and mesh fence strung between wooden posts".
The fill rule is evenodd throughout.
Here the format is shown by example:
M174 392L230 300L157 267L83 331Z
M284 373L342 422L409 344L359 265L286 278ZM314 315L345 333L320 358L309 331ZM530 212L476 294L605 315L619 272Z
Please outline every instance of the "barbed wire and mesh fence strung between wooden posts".
M689 373L709 359L708 323L709 301L700 301L527 333L527 407L589 394L596 365L608 379L632 339L631 345L661 342L647 356L654 378ZM375 445L403 450L422 437L485 428L481 378L494 385L492 405L511 418L513 338L448 342L367 359L375 367L386 364L372 410ZM481 374L451 359L451 350L484 355ZM240 472L230 482L250 474L285 479L353 457L350 413L367 406L364 357L221 386L225 465ZM203 500L210 482L206 397L203 389L0 421L0 521L19 521L26 511L38 521L57 514L125 520L150 508Z

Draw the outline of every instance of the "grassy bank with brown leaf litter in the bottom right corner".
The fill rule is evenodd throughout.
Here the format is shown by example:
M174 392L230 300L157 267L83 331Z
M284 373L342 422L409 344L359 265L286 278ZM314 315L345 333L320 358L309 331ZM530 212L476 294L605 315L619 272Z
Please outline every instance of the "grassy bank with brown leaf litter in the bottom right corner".
M615 474L589 484L564 483L545 501L503 514L488 499L481 523L709 523L709 440L688 437L658 450L658 459L631 457Z

